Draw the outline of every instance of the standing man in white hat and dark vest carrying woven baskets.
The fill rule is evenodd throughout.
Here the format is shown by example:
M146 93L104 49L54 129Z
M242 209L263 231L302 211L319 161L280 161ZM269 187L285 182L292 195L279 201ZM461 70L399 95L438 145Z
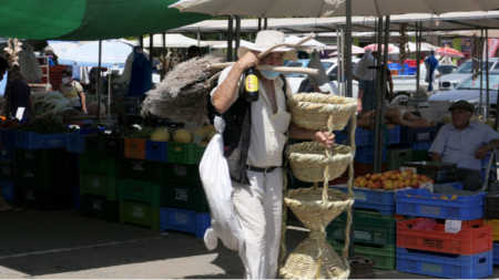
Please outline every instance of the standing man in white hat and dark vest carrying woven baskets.
M225 157L233 179L233 205L241 225L240 257L248 279L275 279L283 209L283 149L287 136L314 139L332 146L334 135L291 124L286 96L291 87L273 71L255 71L258 98L240 96L240 80L257 64L283 65L292 49L277 48L258 60L257 54L284 43L284 33L259 31L254 44L241 46L238 61L225 69L212 91L212 104L226 122Z

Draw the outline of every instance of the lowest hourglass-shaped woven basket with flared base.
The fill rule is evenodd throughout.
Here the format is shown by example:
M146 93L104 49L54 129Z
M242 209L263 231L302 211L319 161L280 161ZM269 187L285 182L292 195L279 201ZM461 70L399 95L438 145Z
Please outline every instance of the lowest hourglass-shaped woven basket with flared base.
M346 279L349 276L348 261L340 258L326 241L325 228L352 207L354 198L339 190L328 189L324 201L323 189L313 187L289 190L285 204L296 217L310 229L310 235L289 253L279 270L288 279Z

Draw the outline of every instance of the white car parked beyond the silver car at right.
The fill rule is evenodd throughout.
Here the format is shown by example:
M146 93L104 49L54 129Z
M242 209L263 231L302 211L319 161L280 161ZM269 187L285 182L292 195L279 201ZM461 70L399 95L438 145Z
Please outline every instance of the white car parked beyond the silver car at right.
M499 72L499 58L489 58L489 71L490 73L492 72ZM483 69L485 68L485 62L483 62ZM472 65L472 61L468 60L466 62L464 62L461 65L459 65L459 68L456 69L455 72L447 74L447 75L441 75L438 80L438 89L439 90L451 90L455 86L457 86L459 83L461 83L462 81L471 77L472 75L472 70L473 70L473 65Z

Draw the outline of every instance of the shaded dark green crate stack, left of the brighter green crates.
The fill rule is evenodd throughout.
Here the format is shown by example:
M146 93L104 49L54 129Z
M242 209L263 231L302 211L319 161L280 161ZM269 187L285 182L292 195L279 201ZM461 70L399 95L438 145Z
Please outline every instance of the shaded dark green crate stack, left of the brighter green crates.
M118 221L119 158L122 141L89 136L80 154L80 211L89 217Z

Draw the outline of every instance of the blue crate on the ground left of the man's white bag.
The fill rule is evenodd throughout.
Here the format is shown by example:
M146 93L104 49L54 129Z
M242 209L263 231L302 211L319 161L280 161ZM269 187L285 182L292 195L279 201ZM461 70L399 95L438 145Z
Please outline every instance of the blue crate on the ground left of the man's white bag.
M160 208L160 229L196 234L196 212L176 208Z

